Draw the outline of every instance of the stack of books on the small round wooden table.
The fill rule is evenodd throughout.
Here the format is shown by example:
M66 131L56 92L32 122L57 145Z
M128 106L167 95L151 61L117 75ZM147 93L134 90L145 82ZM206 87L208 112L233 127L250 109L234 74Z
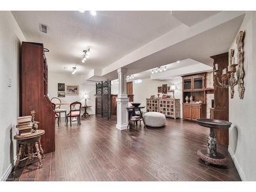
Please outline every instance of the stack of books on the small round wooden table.
M30 135L32 124L31 124L32 117L29 116L23 116L17 118L17 125L16 128L19 131L20 135Z

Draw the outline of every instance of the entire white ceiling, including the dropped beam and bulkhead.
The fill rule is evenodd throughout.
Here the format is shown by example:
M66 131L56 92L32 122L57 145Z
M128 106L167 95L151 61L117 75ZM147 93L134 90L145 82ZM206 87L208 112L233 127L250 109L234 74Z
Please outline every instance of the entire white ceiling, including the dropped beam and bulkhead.
M121 67L127 75L147 77L146 70L168 63L168 69L181 67L175 61L187 58L211 66L210 56L228 51L244 17L243 11L97 11L95 17L89 11L12 13L27 41L50 50L49 71L71 73L77 66L85 82L115 79ZM47 34L39 31L40 24L49 26ZM82 50L89 46L90 58L82 63Z

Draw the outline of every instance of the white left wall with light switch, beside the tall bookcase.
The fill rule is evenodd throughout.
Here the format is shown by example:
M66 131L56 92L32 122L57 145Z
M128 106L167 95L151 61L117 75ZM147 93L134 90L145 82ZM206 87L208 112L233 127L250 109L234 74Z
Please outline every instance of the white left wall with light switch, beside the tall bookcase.
M25 37L10 11L0 11L0 177L8 176L16 158L16 120L19 116L19 62ZM8 87L8 78L12 87ZM9 171L9 172L8 172Z

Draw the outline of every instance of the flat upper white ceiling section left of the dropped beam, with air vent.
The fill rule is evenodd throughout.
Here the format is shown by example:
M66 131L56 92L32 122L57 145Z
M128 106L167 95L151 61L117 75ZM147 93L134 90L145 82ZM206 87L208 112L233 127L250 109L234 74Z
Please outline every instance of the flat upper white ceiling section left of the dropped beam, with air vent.
M147 42L181 25L170 11L12 11L27 41L41 42L49 71L65 73L75 65L77 73L102 69ZM49 26L47 34L39 25ZM81 62L82 50L90 46L90 58ZM64 67L68 67L64 70Z

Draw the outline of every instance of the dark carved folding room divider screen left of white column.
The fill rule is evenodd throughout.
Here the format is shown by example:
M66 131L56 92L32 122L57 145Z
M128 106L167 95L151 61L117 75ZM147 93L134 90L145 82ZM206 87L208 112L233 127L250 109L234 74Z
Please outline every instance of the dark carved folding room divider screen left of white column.
M111 118L111 81L101 81L96 83L96 115Z

